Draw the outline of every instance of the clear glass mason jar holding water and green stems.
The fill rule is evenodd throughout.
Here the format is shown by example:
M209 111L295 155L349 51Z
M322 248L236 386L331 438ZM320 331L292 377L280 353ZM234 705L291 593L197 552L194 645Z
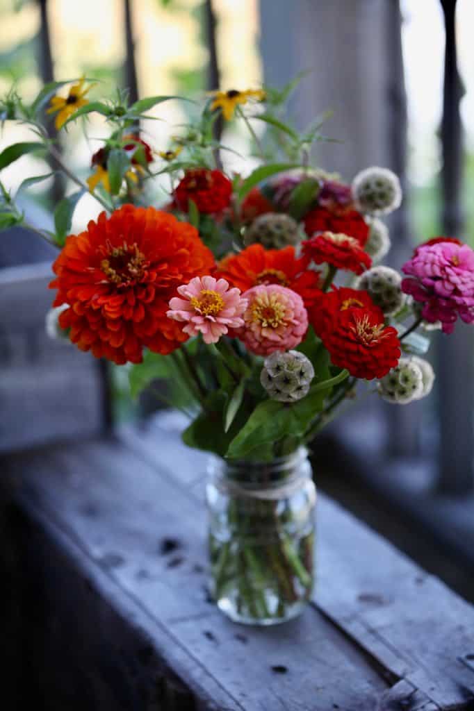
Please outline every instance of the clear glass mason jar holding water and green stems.
M300 614L314 582L316 489L304 447L271 462L208 467L211 594L233 621Z

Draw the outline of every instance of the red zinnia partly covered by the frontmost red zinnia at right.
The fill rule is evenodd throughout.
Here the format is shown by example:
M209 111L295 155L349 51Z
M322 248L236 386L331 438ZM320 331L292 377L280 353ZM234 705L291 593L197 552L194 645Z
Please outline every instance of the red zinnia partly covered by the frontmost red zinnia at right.
M348 309L373 311L379 319L379 323L384 323L384 312L374 304L369 292L347 287L337 288L333 285L331 292L321 293L318 296L315 305L308 314L316 335L322 338L326 333L332 331L339 315Z

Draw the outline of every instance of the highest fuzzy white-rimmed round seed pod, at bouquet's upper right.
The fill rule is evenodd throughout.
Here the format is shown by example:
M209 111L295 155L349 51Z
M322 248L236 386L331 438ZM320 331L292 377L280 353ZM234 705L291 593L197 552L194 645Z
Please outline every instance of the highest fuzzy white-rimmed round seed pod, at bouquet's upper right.
M388 215L401 204L399 178L386 168L366 168L352 181L357 207L369 215Z

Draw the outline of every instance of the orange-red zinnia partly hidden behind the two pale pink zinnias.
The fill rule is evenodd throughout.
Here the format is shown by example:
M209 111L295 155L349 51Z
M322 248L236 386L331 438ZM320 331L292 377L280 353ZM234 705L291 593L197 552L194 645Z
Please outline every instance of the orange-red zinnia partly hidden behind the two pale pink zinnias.
M305 306L311 306L321 292L320 275L307 269L309 262L308 257L296 257L295 247L264 250L262 245L251 245L238 255L224 257L216 276L227 279L241 292L259 284L280 284L300 294Z

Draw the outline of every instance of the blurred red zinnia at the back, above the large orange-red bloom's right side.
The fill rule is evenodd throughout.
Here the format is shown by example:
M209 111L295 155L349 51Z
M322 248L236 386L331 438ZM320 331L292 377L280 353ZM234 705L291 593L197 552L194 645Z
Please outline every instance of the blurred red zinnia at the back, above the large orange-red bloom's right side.
M188 209L188 201L196 203L200 213L220 213L231 201L232 183L221 171L193 168L174 191L174 202L179 210Z

